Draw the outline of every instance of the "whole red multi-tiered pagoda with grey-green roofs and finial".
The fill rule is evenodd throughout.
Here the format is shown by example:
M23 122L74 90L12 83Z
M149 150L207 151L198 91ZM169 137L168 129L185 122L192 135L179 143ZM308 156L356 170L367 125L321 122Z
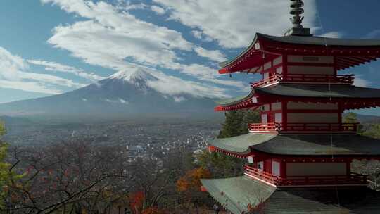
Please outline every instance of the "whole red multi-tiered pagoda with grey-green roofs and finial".
M215 111L258 109L248 134L208 141L209 151L246 158L242 177L201 180L234 214L380 213L380 195L353 160L380 159L380 140L344 123L345 110L380 106L380 89L356 87L339 71L375 61L380 40L315 37L301 25L303 1L291 0L293 27L282 37L255 34L220 74L260 73L248 96Z

